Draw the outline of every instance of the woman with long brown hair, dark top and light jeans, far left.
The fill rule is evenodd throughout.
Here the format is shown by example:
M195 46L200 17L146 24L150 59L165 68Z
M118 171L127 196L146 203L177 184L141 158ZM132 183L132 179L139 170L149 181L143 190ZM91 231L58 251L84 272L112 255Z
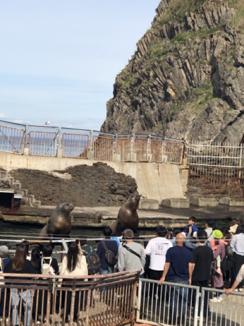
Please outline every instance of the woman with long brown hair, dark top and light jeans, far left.
M26 259L27 252L24 244L17 247L14 258L5 267L5 273L36 274L36 269L31 261ZM12 325L19 324L19 302L22 300L26 313L26 326L31 319L31 290L12 289Z

